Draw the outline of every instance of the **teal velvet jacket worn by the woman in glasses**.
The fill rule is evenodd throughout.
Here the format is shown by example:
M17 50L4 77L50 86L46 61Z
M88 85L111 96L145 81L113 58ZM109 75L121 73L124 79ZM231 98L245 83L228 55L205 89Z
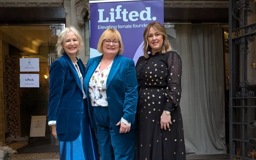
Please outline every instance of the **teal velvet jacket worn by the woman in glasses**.
M88 60L86 75L84 78L84 88L88 101L88 112L91 126L96 129L93 116L92 104L89 98L89 81L98 67L102 56ZM135 114L138 103L138 83L134 61L126 57L116 55L107 79L106 93L108 99L108 111L110 123L115 132L119 132L120 126L116 124L123 117L131 122L131 130L135 129Z

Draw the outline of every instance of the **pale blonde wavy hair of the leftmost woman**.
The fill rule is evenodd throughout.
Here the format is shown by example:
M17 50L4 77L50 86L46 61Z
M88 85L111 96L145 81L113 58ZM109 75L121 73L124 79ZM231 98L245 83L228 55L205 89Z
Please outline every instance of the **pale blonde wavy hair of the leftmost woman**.
M60 32L60 35L58 36L58 42L56 44L56 52L58 54L58 57L61 57L64 53L63 43L64 43L65 39L67 38L69 32L73 32L75 34L75 36L79 42L79 50L84 48L84 41L83 41L82 37L80 36L79 31L75 27L69 26L69 27L63 29ZM78 54L79 54L79 51L76 53L76 55L78 55Z

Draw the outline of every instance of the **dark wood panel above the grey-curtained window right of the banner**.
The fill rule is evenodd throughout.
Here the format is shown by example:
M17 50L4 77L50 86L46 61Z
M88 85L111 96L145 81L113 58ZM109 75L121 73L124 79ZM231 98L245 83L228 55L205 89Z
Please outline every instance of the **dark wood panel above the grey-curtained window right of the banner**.
M228 23L228 8L164 8L164 21Z

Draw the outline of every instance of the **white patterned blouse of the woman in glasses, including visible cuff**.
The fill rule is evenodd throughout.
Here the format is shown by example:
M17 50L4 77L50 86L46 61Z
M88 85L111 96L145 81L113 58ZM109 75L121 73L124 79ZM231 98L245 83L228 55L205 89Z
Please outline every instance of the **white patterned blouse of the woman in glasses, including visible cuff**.
M108 67L100 71L100 62L100 64L92 74L89 82L89 96L92 106L108 107L106 88L108 74L111 69L112 63L113 61L108 65ZM121 119L121 123L131 126L131 123L126 121L124 118Z

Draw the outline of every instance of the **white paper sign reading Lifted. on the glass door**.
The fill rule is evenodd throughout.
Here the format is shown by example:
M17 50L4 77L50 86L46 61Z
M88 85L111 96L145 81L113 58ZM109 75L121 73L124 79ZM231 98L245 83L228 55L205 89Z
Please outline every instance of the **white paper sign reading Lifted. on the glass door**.
M20 87L39 88L39 74L20 74Z

